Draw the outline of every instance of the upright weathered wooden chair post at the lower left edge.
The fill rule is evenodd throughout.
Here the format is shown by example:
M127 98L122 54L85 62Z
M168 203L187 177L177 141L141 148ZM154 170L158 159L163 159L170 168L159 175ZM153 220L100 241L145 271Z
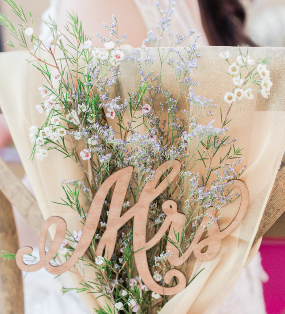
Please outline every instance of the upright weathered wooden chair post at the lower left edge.
M0 250L16 253L18 238L12 206L0 191ZM24 314L22 272L16 261L0 258L0 314Z

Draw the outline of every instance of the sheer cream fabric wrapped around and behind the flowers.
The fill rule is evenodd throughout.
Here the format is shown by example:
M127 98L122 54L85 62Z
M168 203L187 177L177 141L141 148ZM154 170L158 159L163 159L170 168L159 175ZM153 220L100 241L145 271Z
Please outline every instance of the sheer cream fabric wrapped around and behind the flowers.
M123 51L130 55L133 49L123 46ZM199 47L198 53L202 58L198 60L199 69L194 70L193 79L200 83L196 88L199 95L214 100L222 108L223 115L228 109L224 102L224 94L231 90L231 78L225 74L226 63L219 58L219 52L230 50L232 62L239 54L236 47ZM246 48L241 48L246 53ZM156 56L156 51L151 51ZM245 218L239 227L222 240L222 247L213 260L194 261L192 276L199 270L198 275L185 290L175 295L161 310L162 314L203 314L208 308L210 312L219 305L226 293L243 269L251 249L263 210L272 189L272 185L280 165L285 144L285 49L282 48L249 48L249 54L255 60L269 57L271 78L273 82L269 99L255 94L253 100L240 101L230 111L230 135L238 138L240 147L244 147L243 162L246 170L241 179L245 181L250 195L250 204ZM0 54L2 73L0 85L0 106L7 120L15 146L19 152L24 169L33 187L36 199L44 218L57 215L67 222L68 230L79 230L82 225L76 219L78 214L58 202L65 194L61 189L62 179L81 179L82 171L68 159L63 159L56 150L49 151L44 161L29 160L32 145L29 142L29 127L41 126L45 120L45 113L40 115L35 105L42 102L38 87L46 84L45 78L26 59L31 59L24 52L9 52ZM48 58L46 58L48 60ZM230 58L231 59L231 58ZM135 65L122 63L123 75L119 89L122 99L127 98L127 92L135 90L139 72ZM158 64L153 65L154 73L158 72ZM173 84L172 68L165 66L163 73L166 88ZM173 89L173 97L178 89ZM178 111L185 108L181 100ZM219 111L214 110L216 125L220 126ZM211 121L213 117L205 118L203 123ZM198 169L202 173L202 168ZM225 212L225 217L234 213ZM70 273L75 286L82 280L80 267L73 269L78 274ZM92 294L80 294L90 312L102 301L94 301ZM209 312L209 313L210 313Z

